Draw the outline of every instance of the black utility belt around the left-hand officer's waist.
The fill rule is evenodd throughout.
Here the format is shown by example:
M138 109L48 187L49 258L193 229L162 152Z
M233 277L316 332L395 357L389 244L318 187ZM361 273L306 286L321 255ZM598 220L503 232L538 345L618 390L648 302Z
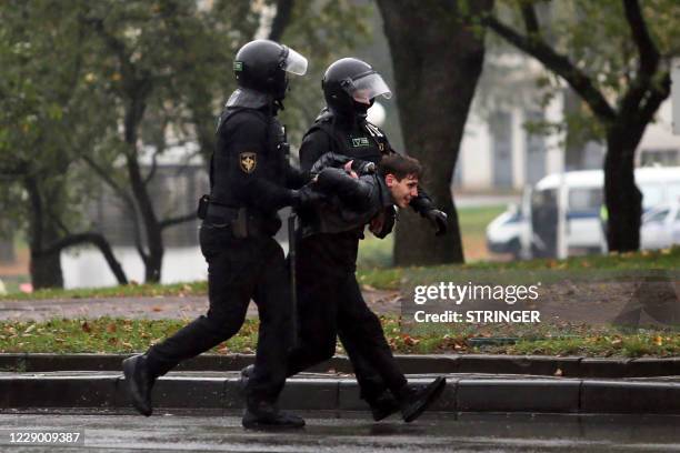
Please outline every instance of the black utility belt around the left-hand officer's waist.
M198 218L204 223L229 226L237 239L272 236L281 228L274 213L264 215L246 207L231 207L203 195L199 199Z

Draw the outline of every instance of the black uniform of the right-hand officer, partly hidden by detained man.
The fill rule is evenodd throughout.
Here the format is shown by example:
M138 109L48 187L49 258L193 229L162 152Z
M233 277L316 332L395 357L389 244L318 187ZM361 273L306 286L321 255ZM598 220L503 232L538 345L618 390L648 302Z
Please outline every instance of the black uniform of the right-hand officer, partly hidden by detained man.
M306 134L300 148L300 164L308 171L326 152L378 163L384 153L393 152L387 138L367 121L341 121L326 111ZM411 203L418 210L432 209L419 190ZM320 220L302 212L302 231L323 231ZM371 402L386 387L393 393L407 383L384 339L378 316L367 306L354 272L360 224L351 231L307 234L298 252L298 298L300 310L300 348L289 359L288 374L300 372L330 359L336 351L336 335L344 345L362 396Z

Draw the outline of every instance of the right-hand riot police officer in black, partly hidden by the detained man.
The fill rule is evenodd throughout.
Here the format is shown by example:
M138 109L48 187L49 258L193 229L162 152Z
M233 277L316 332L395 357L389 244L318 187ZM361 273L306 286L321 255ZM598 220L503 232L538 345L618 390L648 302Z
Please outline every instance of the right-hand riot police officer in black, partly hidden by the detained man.
M302 170L310 170L329 151L373 163L394 152L384 133L367 121L374 99L391 97L373 68L354 58L338 60L327 69L322 88L327 109L302 141ZM421 188L410 207L432 222L437 234L446 232L446 214L434 208ZM386 213L390 214L389 209ZM302 238L298 252L301 346L290 356L289 375L332 356L338 332L373 417L381 420L401 409L406 421L414 420L441 391L443 382L439 379L419 389L408 385L398 369L380 321L367 306L354 275L363 225L328 233L310 211L301 210L300 214L302 231L313 234Z

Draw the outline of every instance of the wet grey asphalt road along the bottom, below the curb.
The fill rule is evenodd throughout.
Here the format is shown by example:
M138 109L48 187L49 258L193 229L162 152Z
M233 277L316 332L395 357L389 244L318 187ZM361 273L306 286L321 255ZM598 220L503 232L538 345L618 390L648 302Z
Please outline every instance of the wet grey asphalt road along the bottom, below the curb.
M613 415L428 415L372 423L363 413L307 415L293 432L252 432L240 417L207 415L0 414L11 452L680 452L680 417ZM12 444L20 430L81 431L84 445Z

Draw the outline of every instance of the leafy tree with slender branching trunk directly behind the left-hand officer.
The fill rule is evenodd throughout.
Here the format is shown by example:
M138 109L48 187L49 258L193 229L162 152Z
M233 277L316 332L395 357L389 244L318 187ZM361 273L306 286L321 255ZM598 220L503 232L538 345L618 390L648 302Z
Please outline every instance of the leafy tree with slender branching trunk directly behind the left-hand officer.
M159 219L148 190L154 165L147 174L140 165L144 145L156 145L152 158L156 162L156 157L164 151L158 144L163 143L162 138L172 128L172 135L198 141L200 153L204 158L210 155L214 147L214 118L234 84L233 56L256 38L262 14L271 14L272 10L270 33L264 37L282 36L283 42L317 64L324 62L317 57L332 54L330 49L346 48L344 43L337 43L342 36L336 31L351 32L356 28L348 26L356 23L348 20L354 19L353 7L331 1L314 2L311 8L292 1L263 3L259 8L248 1L217 1L204 9L193 2L173 0L100 1L91 4L84 18L101 47L102 58L92 71L98 80L110 83L111 108L118 114L109 128L113 133L108 143L101 147L99 158L89 159L88 163L126 201L128 212L136 219L136 243L144 263L146 281L160 280L163 230L194 219L194 212ZM289 26L290 32L286 31ZM304 44L298 46L298 41ZM309 95L310 90L297 87L293 92ZM287 102L289 107L302 104L300 94L297 95L297 102ZM307 127L311 120L300 111L303 110L287 110L284 120L293 120L293 130L301 130L300 124ZM168 127L153 134L161 140L144 141L143 130L159 123ZM114 168L120 159L124 162L122 171L112 175L107 169Z

